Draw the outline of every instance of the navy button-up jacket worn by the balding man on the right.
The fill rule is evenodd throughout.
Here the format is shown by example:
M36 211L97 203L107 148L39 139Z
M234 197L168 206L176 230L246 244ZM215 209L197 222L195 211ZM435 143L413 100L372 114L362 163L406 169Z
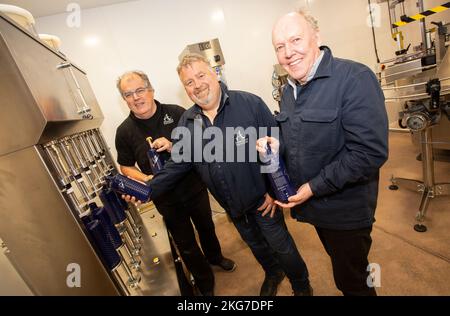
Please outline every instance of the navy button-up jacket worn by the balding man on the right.
M297 88L297 99L286 85L276 117L291 180L309 182L314 193L292 216L329 229L368 227L388 156L384 96L368 67L321 49L315 76Z

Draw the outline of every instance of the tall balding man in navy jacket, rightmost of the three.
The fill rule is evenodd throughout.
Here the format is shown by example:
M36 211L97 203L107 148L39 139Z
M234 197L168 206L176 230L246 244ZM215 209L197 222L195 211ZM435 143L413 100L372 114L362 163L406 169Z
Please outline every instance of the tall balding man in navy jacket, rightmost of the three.
M344 295L376 295L367 282L379 169L388 156L383 92L366 66L320 47L317 21L283 16L272 33L289 74L280 113L281 152L298 188L289 203L298 221L314 225ZM258 151L273 138L258 141Z

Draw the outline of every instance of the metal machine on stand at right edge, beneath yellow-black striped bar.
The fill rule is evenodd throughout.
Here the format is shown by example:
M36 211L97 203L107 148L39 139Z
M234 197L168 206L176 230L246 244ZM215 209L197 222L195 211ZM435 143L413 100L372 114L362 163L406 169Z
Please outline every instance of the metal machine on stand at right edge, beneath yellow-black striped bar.
M450 53L447 49L450 24L433 21L427 29L425 18L438 16L449 3L425 10L423 1L417 1L419 14L407 16L405 0L379 0L387 2L391 19L392 38L397 42L397 57L383 61L382 87L393 132L406 131L413 143L420 148L423 179L405 179L392 176L391 190L399 187L422 194L414 229L425 232L425 215L431 199L450 194L450 183L436 183L434 161L439 158L450 162ZM413 13L413 12L411 12ZM400 16L401 14L401 16ZM398 22L397 16L400 16ZM416 23L422 35L422 43L409 52L404 47L401 26Z

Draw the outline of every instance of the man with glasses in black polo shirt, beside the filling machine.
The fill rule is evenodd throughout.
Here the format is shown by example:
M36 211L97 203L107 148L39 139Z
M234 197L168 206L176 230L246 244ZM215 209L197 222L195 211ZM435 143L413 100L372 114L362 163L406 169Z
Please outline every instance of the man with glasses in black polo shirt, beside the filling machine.
M171 133L185 110L155 100L153 87L141 71L120 76L117 88L130 109L130 115L116 132L117 162L124 175L146 181L152 177L147 158L147 137L153 138L152 147L163 159L170 158ZM236 264L222 255L204 183L194 172L190 172L173 191L154 199L154 203L200 293L213 295L214 275L209 264L229 272L236 268ZM204 255L195 239L192 223L197 229Z

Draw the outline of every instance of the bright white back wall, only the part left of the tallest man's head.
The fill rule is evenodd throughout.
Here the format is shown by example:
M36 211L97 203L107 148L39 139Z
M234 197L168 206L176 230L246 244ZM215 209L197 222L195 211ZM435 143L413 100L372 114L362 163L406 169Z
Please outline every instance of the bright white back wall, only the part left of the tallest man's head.
M187 44L219 38L230 88L256 93L275 108L271 27L293 7L293 0L141 0L83 10L80 28L66 25L68 14L39 18L36 28L59 36L61 51L88 73L105 115L102 131L115 155L115 129L128 115L116 78L141 69L157 99L189 107L175 70ZM219 10L223 21L212 18Z

